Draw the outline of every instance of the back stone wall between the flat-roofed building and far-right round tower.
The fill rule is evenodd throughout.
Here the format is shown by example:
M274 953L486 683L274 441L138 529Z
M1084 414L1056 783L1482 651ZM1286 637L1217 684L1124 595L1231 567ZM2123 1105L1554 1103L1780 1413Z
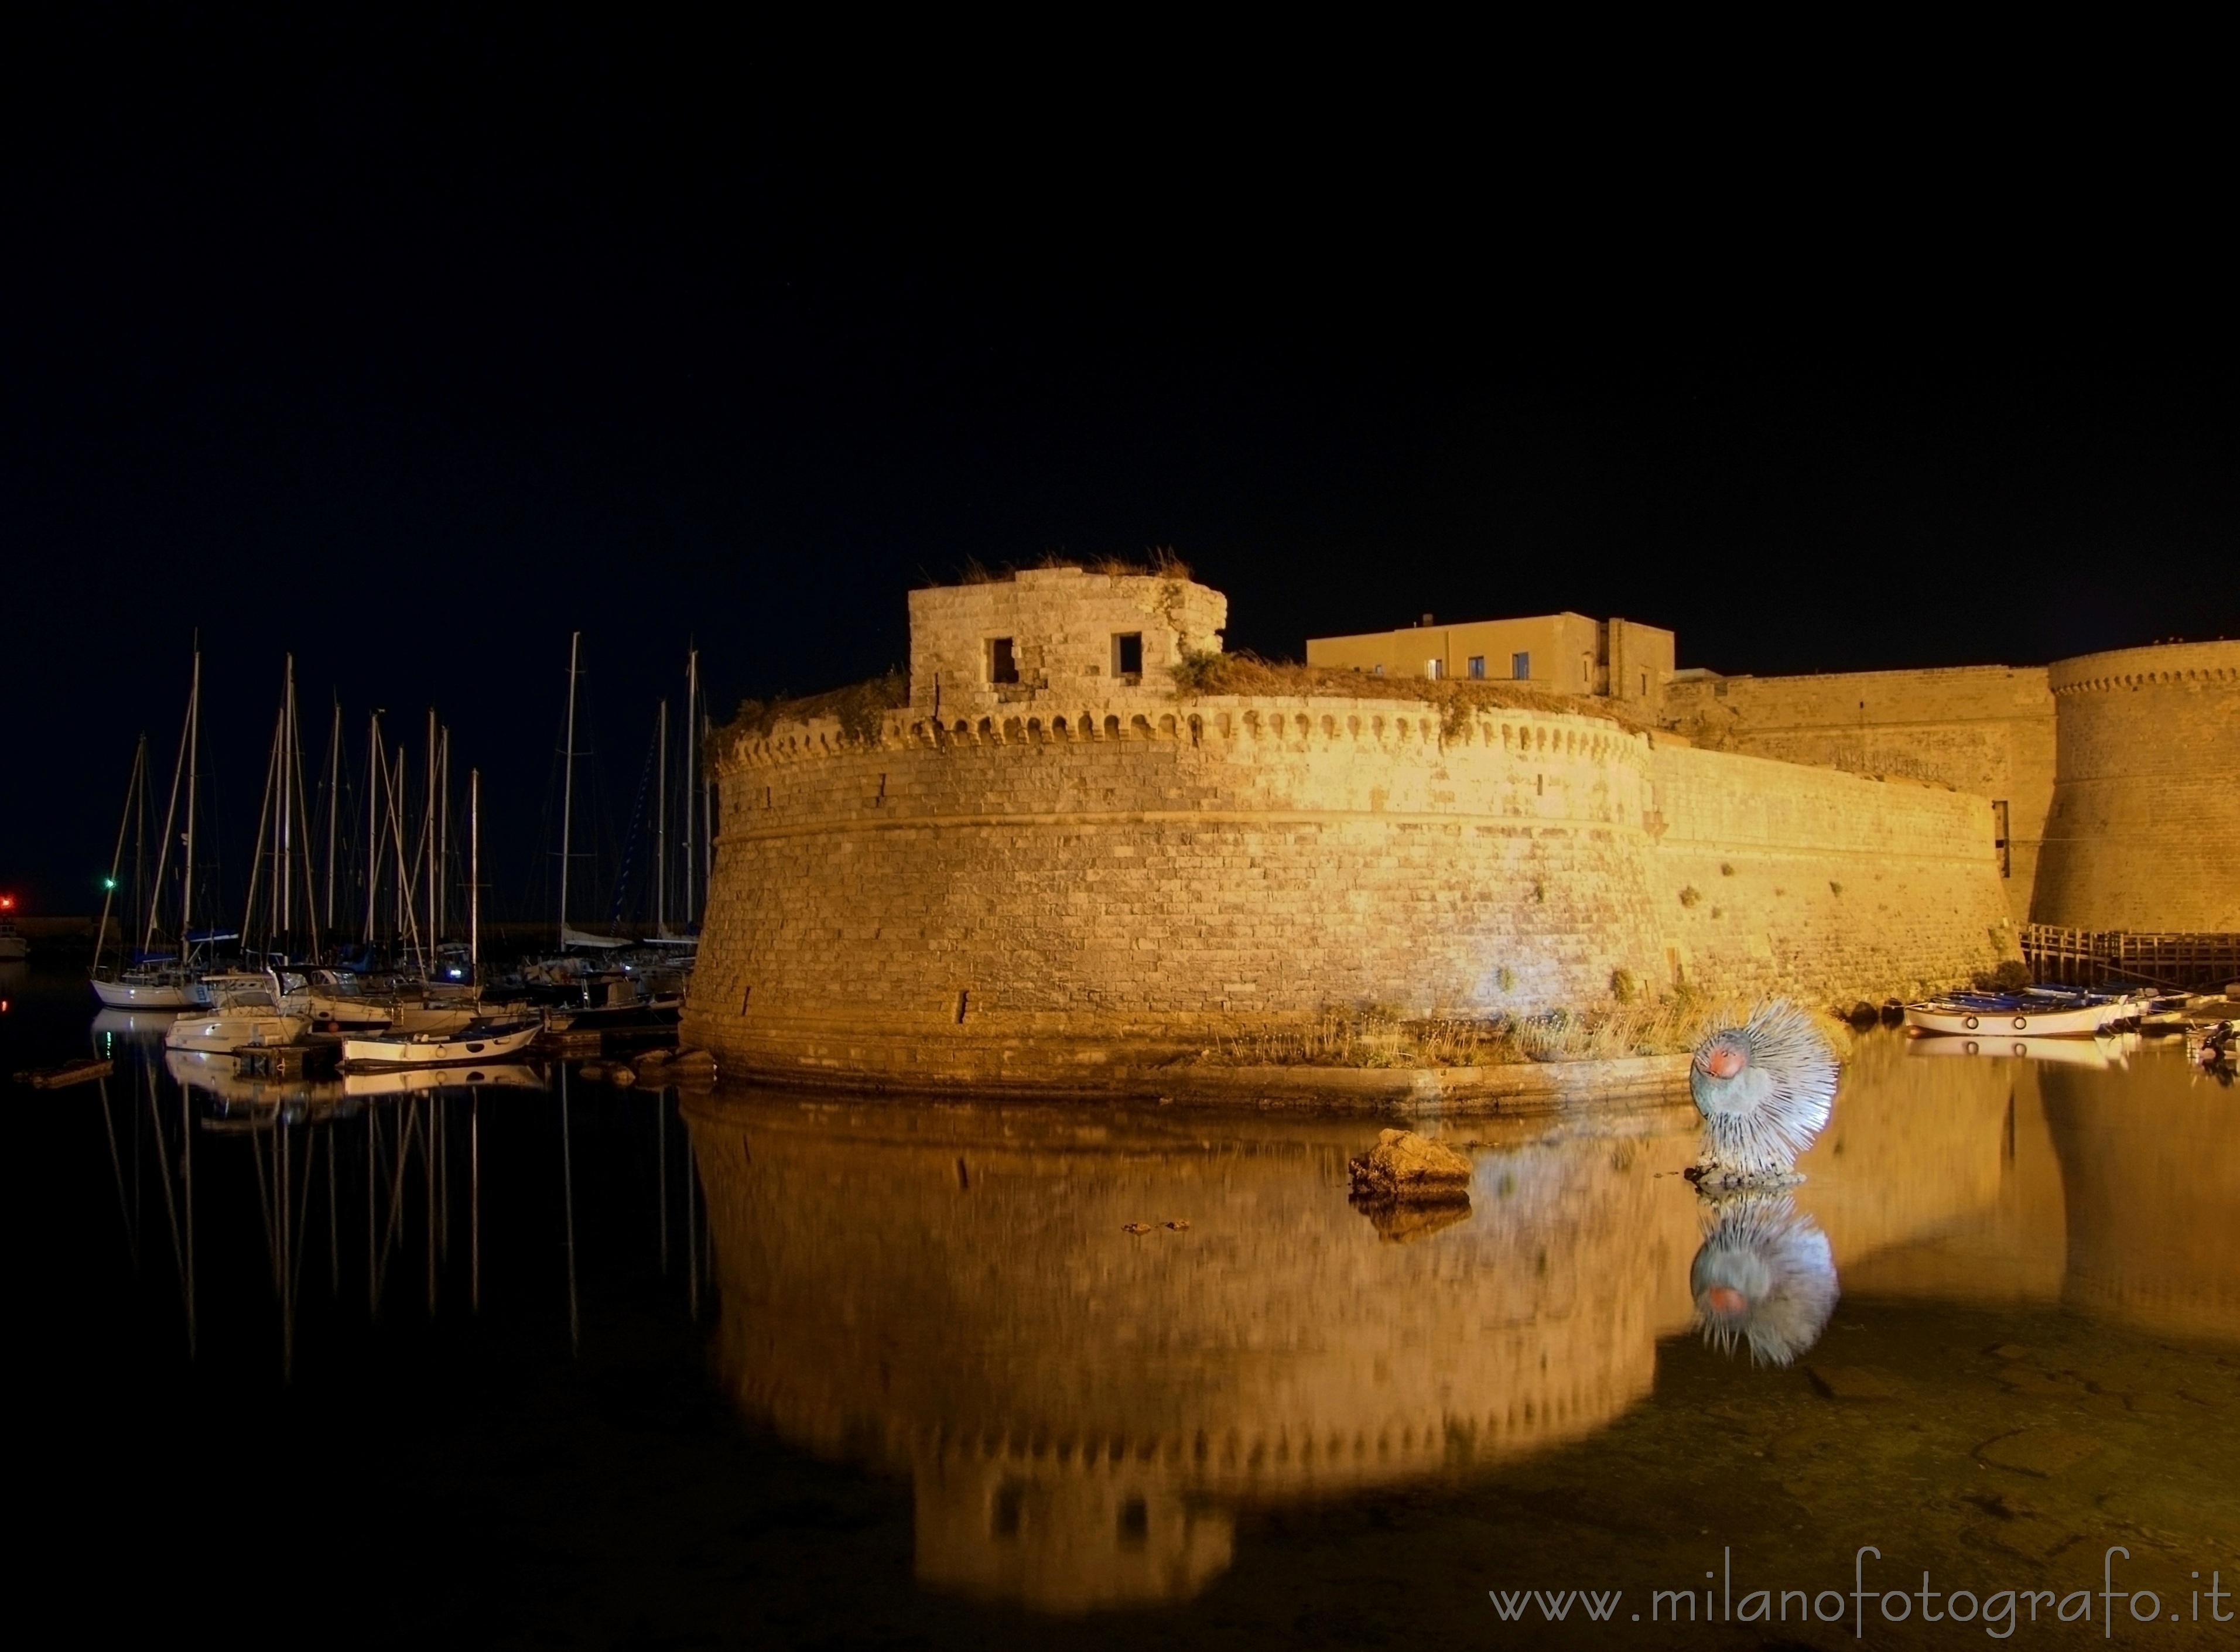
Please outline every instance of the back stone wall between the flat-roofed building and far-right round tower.
M2045 667L1698 676L1664 692L1698 745L1783 763L1897 775L2007 804L2007 911L2029 922L2054 801L2054 696Z

